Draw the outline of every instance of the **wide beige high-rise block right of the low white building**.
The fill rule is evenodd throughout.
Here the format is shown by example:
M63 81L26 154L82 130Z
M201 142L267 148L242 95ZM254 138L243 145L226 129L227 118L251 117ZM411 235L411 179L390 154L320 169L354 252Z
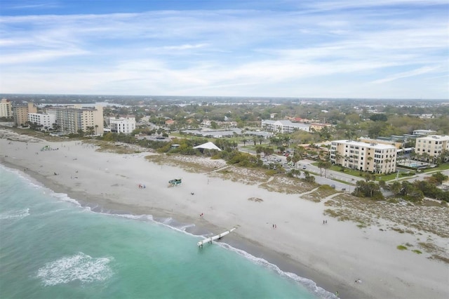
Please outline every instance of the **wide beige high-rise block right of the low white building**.
M82 105L46 107L44 111L56 117L59 131L66 134L77 134L81 131L88 134L103 133L103 107L82 107Z

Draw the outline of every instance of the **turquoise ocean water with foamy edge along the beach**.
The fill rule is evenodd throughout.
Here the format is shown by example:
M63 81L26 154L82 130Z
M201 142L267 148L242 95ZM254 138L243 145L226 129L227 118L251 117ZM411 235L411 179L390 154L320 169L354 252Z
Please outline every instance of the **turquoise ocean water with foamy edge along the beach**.
M333 298L151 215L94 213L0 166L1 298Z

